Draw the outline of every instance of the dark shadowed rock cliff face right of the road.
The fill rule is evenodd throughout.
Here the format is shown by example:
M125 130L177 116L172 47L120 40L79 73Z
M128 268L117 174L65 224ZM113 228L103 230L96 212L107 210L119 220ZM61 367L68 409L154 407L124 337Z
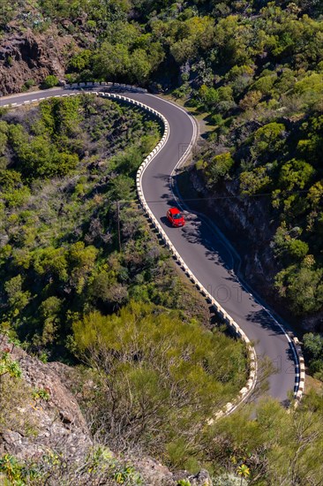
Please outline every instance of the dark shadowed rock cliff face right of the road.
M216 201L213 198L214 194L207 191L197 171L192 169L188 176L196 194L202 194L204 197L202 202L197 201L190 205L195 205L195 209L210 216L234 243L241 258L235 268L237 274L275 308L278 314L290 321L291 315L286 301L282 301L274 290L274 277L281 268L274 258L271 246L277 222L267 223L267 205L270 202L266 198L261 201L237 199L235 195L238 193L238 187L235 181L226 181L225 186L219 187L216 196L221 197L221 200ZM306 323L303 324L306 329Z

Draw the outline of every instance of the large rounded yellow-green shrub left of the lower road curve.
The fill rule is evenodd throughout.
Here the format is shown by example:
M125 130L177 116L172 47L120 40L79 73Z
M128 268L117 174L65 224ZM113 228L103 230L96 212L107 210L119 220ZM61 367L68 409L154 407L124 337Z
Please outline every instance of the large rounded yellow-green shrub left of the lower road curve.
M184 435L194 451L200 427L244 383L243 345L175 311L131 302L117 315L86 315L73 331L79 357L94 369L87 413L111 440L124 434L170 454Z

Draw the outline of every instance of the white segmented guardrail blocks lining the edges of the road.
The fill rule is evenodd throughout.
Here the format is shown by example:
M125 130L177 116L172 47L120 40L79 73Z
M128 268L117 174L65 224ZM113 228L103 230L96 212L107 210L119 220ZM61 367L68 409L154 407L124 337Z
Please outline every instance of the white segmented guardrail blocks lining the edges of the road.
M115 89L120 89L123 91L131 91L134 93L146 93L146 89L140 88L140 87L132 87L130 85L124 85L124 84L118 84L118 83L79 83L79 84L72 84L72 85L66 85L66 89L72 89L72 88L84 88L84 87L108 87L112 88L113 90ZM231 414L234 412L237 408L237 406L240 406L252 393L256 383L257 383L257 375L258 375L258 363L257 363L257 354L254 349L254 346L252 346L252 342L250 339L246 336L244 333L244 330L240 328L240 326L229 316L229 314L225 311L224 308L217 302L217 300L214 299L214 297L207 292L207 289L199 282L199 280L195 277L195 275L192 273L192 270L188 268L186 263L184 262L183 258L181 255L177 252L177 249L173 246L171 243L169 237L167 236L166 232L163 230L162 225L157 221L156 217L154 216L153 211L149 208L148 204L146 203L145 195L142 190L142 176L144 171L146 170L146 167L151 163L154 159L154 157L162 150L164 145L166 144L168 138L169 138L169 122L168 120L162 115L157 110L154 110L150 106L147 106L145 103L141 103L137 100L133 100L129 98L128 96L125 95L119 95L117 93L112 93L112 92L98 92L98 91L79 91L76 93L71 93L71 94L65 94L65 95L46 95L42 97L39 100L32 100L26 101L24 103L11 103L4 105L4 108L17 108L21 105L27 105L30 103L39 103L40 101L44 99L49 99L52 97L59 98L59 97L66 97L66 96L76 96L76 95L81 95L81 94L88 94L88 95L96 95L96 96L102 96L102 97L108 97L110 99L114 100L119 100L123 101L125 103L131 103L132 105L138 106L139 108L146 110L152 115L154 115L157 118L160 118L162 120L162 124L164 125L164 133L162 135L162 139L158 142L154 150L146 156L146 159L144 160L143 163L141 163L139 170L137 171L137 177L136 177L136 186L137 186L137 193L139 197L140 204L142 208L146 212L146 216L149 218L150 222L154 225L154 228L156 232L158 232L159 236L161 237L163 243L165 244L166 247L169 248L170 252L174 255L174 257L177 260L177 263L180 265L182 270L184 270L184 273L186 274L187 277L190 278L192 283L196 286L196 288L199 290L199 292L205 297L208 303L211 303L211 305L214 307L216 313L220 315L222 320L229 326L229 329L233 331L233 333L238 337L243 339L247 352L248 352L248 359L249 359L249 376L247 379L247 382L245 383L245 386L239 391L237 395L237 399L235 399L232 403L227 403L225 406L223 406L222 410L215 414L214 419L226 415L226 414ZM187 153L184 154L184 157L188 157L191 153L191 148L187 150ZM279 324L281 325L281 324ZM282 327L282 326L281 326ZM285 331L284 331L285 332ZM287 334L285 332L285 334ZM289 342L291 343L291 346L294 346L297 354L297 373L296 373L296 386L295 386L295 404L299 403L300 399L302 398L303 391L304 391L304 381L305 381L305 368L304 368L304 357L302 353L301 346L299 344L299 341L296 337L294 337L290 332L287 334L289 337ZM210 420L209 423L212 423L214 419Z

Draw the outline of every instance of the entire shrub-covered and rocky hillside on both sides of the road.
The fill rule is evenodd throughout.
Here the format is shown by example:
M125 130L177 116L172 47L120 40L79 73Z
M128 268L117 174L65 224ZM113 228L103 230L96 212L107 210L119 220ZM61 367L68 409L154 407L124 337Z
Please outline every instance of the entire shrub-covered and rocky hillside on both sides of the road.
M288 414L267 398L213 422L245 383L245 349L210 321L138 208L135 174L161 126L85 95L0 109L5 483L45 484L48 475L72 483L68 464L84 474L75 484L148 486L154 471L174 486L319 484L321 1L0 0L0 11L1 95L59 80L127 82L199 118L207 130L178 185L237 247L244 279L305 333L318 379ZM15 342L29 357L11 351ZM261 359L259 368L266 391L272 370ZM62 401L49 397L47 375ZM57 435L41 431L38 412L21 425L31 399L46 423L58 416ZM64 405L66 417L57 412ZM26 451L42 454L43 436L41 446L64 444L71 414L71 439L84 439L88 453L74 456L73 443L63 459L26 460Z

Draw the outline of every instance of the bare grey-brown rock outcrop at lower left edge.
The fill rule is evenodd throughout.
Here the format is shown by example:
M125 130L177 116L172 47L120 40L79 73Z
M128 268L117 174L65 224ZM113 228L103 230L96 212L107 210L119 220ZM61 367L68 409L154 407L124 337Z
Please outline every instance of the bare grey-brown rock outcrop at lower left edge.
M11 345L4 342L0 349L5 347L11 348ZM13 348L11 356L19 361L24 383L31 391L47 391L49 399L38 400L31 396L28 403L19 407L17 412L33 421L36 430L26 436L23 429L3 429L0 455L10 453L19 459L37 459L49 449L55 449L64 451L67 458L82 459L93 442L76 399L50 364L29 356L18 347Z

